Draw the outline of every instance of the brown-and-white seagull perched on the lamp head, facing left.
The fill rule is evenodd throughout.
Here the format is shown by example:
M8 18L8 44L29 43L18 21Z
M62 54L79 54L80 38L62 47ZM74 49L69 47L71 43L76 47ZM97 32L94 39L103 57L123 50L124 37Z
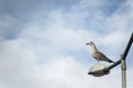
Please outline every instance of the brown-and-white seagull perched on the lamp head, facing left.
M104 61L104 62L109 62L109 63L114 63L112 59L110 59L109 57L106 57L102 52L98 51L95 44L93 42L86 43L86 45L91 46L91 53L92 56L98 61L98 63L100 61Z

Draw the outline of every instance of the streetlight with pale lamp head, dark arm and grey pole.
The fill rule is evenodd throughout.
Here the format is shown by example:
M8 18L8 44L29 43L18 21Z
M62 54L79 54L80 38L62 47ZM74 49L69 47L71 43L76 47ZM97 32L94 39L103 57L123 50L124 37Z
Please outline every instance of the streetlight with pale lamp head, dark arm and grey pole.
M114 68L115 66L121 64L122 88L126 88L126 56L127 56L127 53L131 48L132 43L133 43L133 32L132 32L132 35L129 40L129 43L126 45L126 48L125 48L124 53L121 55L121 58L117 62L110 65L109 67L106 67L104 65L101 65L101 64L94 65L93 67L91 67L91 69L89 70L88 74L93 75L95 77L101 77L101 76L104 76L104 75L109 75L109 73L112 68Z

